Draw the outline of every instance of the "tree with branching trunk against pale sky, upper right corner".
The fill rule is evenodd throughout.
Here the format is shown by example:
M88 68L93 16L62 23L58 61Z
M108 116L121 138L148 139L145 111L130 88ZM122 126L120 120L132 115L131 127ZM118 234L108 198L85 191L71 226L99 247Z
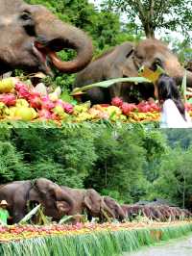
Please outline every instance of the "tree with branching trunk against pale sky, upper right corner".
M107 0L105 4L126 13L128 22L142 28L147 38L155 38L157 29L177 31L180 28L183 34L188 35L192 28L191 1Z

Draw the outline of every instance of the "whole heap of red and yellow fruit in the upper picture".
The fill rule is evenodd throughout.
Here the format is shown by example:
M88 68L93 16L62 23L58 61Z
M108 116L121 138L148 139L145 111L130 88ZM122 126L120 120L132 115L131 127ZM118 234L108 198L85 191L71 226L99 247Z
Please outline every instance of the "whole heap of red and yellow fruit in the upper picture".
M75 102L75 101L74 101ZM90 102L71 104L59 98L56 91L41 94L17 78L0 81L0 120L54 120L82 122L108 119L112 122L153 121L159 118L159 108L154 100L138 105L112 99L111 105L94 105Z

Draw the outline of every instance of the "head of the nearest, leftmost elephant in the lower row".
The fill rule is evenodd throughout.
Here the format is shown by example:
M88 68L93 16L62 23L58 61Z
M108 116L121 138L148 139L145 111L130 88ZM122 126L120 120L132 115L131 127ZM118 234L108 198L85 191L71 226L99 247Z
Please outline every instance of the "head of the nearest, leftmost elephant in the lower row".
M74 202L59 185L45 179L36 179L34 187L29 192L29 201L40 203L46 216L59 220L64 215L70 215Z

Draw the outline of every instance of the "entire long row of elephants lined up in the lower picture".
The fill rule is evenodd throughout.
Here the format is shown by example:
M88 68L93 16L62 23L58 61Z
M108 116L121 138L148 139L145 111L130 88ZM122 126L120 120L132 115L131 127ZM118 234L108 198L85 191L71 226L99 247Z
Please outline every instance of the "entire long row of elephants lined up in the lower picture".
M8 202L13 223L19 222L28 213L29 202L32 205L40 203L44 214L55 221L59 221L65 215L77 216L84 213L88 220L99 218L100 221L108 218L123 221L138 215L161 221L169 218L191 217L187 210L177 207L120 205L113 198L101 196L93 189L71 189L59 186L45 178L34 181L14 181L1 185L0 200Z

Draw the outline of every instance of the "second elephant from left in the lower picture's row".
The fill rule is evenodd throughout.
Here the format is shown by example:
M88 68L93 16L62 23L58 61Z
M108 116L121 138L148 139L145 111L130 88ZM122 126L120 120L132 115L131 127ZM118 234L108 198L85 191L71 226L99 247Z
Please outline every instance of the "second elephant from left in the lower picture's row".
M109 218L115 218L115 214L108 207L103 197L93 189L71 189L60 186L69 197L75 201L72 215L82 215L84 211L87 213L88 220L91 218L103 219L103 211L105 211Z

